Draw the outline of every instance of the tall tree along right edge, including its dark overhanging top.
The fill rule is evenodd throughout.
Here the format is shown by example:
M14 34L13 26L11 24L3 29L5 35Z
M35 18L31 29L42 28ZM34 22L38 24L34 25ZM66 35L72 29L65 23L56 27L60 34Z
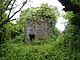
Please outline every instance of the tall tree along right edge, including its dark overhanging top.
M80 54L80 0L59 0L65 11L66 18L69 20L62 36L65 47L70 47L71 52L77 52L73 60L79 60ZM60 39L60 38L59 38ZM79 54L78 54L79 53Z

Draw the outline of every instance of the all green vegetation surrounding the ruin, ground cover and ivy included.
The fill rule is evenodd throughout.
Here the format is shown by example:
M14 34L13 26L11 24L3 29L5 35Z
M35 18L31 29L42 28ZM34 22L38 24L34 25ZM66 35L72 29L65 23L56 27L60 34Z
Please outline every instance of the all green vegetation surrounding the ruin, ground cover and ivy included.
M72 0L73 1L73 0ZM76 3L77 4L77 3ZM51 9L50 9L51 7ZM44 9L43 9L44 8ZM50 10L50 13L45 11ZM8 22L0 29L0 60L80 60L80 13L73 14L67 12L64 16L69 21L65 30L60 34L55 28L54 34L43 40L34 40L33 42L24 43L24 23L27 18L34 20L48 16L51 23L54 23L56 8L43 4L37 8L28 8L23 10L17 24ZM37 11L37 12L36 12ZM42 14L45 13L44 15ZM47 13L48 12L48 13ZM26 13L26 14L25 14ZM32 14L34 13L34 14ZM38 16L38 14L40 16ZM51 16L51 15L54 15ZM2 16L5 19L5 16ZM48 17L44 17L47 19ZM51 24L53 28L53 25Z

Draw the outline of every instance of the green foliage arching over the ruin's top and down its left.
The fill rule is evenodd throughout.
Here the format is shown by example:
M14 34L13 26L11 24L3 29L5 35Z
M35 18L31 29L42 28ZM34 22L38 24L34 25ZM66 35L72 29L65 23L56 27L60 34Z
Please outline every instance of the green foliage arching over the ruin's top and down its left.
M23 10L20 14L20 22L16 21L16 24L13 23L13 21L8 22L5 24L3 27L0 29L0 43L1 41L4 42L4 40L11 40L11 39L21 39L18 37L22 37L24 34L24 25L26 23L26 20L28 18L33 19L35 21L40 20L40 18L44 18L44 20L47 20L50 22L51 27L54 29L54 23L56 21L56 16L55 11L57 10L56 7L53 6L48 6L48 4L42 4L40 7L36 8L27 8L26 10ZM3 14L2 20L0 20L0 24L4 22L4 20L7 18L7 14ZM55 31L57 29L55 28ZM57 31L58 32L58 31ZM56 34L57 35L57 34ZM24 36L23 36L24 37ZM24 38L22 38L24 40Z

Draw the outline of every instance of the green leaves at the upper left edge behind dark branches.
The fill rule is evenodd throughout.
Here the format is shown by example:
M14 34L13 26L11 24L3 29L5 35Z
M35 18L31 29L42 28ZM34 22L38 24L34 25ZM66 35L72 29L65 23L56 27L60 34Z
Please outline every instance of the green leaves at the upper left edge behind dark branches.
M7 11L9 9L9 7L6 7L6 6L8 6L9 1L10 0L1 0L0 1L0 25L7 19L7 14L5 11ZM10 3L10 5L11 5L11 3Z

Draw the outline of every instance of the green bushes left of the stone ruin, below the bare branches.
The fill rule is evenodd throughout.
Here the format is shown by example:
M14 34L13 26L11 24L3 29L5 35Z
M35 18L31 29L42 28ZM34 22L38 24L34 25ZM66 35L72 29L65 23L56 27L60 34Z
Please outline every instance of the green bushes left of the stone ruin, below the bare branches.
M13 22L9 22L0 30L0 43L4 42L5 40L18 40L19 36L22 37L21 40L23 40L23 35L23 29L19 26L19 23L13 24Z

